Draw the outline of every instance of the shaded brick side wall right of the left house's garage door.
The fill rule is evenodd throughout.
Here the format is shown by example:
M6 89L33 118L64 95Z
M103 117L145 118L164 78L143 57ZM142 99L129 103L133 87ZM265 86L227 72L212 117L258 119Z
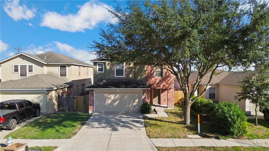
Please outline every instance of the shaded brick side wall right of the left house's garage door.
M47 113L58 111L58 99L62 92L67 91L67 88L47 90Z

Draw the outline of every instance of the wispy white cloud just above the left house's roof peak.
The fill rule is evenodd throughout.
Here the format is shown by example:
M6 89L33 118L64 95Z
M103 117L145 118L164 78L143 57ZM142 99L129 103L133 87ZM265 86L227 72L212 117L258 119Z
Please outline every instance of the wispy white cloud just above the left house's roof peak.
M61 43L58 41L53 42L60 51L67 53L66 55L74 57L78 60L90 63L89 60L96 59L96 55L89 54L89 51L86 49L75 49L74 47ZM65 54L64 53L64 54Z

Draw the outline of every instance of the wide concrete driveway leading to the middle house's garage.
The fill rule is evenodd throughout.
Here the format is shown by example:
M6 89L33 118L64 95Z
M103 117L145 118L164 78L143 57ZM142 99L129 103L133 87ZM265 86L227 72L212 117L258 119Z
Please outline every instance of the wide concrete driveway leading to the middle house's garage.
M143 115L135 112L94 113L80 131L55 151L157 150L146 135Z

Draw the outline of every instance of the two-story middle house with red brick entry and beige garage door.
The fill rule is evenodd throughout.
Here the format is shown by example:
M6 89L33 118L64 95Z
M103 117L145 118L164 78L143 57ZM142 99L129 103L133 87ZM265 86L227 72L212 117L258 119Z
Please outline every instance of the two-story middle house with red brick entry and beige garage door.
M94 59L94 84L89 90L89 113L137 112L143 102L174 107L173 75L162 67L141 63L114 66Z

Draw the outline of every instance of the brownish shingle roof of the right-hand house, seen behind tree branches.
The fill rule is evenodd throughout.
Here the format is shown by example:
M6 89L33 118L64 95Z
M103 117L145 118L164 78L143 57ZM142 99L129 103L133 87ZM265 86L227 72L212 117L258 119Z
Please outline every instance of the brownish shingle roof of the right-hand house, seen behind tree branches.
M241 87L241 81L250 75L250 73L229 73L223 70L216 70L217 75L213 75L210 83L234 85ZM195 83L197 79L198 71L191 73L189 77L189 83ZM208 72L201 80L200 84L207 84L210 79L211 72Z

